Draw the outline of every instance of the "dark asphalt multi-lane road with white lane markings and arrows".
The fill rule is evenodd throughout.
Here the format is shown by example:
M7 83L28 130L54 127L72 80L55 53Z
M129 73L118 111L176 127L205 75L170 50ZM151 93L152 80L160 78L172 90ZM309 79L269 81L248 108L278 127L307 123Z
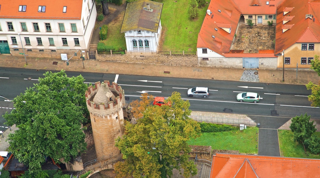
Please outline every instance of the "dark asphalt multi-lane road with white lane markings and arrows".
M47 70L0 68L0 95L12 100L27 87L37 83ZM55 72L55 71L53 71ZM293 117L308 113L312 118L320 118L320 109L310 107L308 91L305 85L265 84L252 82L204 80L188 78L166 78L123 74L105 74L89 72L69 72L68 77L82 75L85 82L116 81L125 91L127 102L139 99L140 94L148 92L154 96L168 97L177 91L185 100L189 100L190 109L195 111L227 112L235 114ZM147 81L146 81L147 80ZM208 87L208 98L188 97L187 90L195 86ZM236 95L240 92L259 93L258 103L240 103ZM0 102L0 107L3 103ZM0 111L1 112L1 111ZM268 120L265 118L265 120ZM0 118L0 124L4 121ZM266 121L267 122L267 121Z

